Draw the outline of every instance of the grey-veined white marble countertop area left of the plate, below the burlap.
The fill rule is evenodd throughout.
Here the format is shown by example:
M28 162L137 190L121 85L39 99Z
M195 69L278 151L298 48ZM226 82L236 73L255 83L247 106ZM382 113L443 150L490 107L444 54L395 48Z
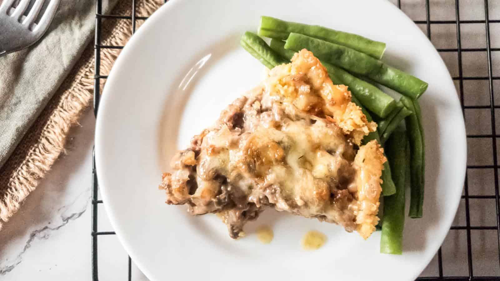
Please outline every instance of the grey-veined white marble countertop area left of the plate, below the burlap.
M88 110L55 163L0 231L0 280L91 279L91 159L94 117ZM99 208L99 231L111 231ZM99 279L127 278L128 258L116 235L99 236ZM147 280L132 267L133 280Z

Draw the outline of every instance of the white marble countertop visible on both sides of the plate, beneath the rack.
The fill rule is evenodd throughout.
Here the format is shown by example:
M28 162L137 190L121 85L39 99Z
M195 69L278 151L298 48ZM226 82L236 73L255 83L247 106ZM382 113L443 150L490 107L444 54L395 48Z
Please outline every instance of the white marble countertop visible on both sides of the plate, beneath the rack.
M395 0L393 0L395 2ZM402 9L412 19L425 19L424 0L402 0ZM430 0L431 18L454 20L454 4L450 0ZM483 0L460 0L461 19L484 19ZM490 18L500 18L500 1L489 0ZM420 25L425 30L425 25ZM491 26L492 47L500 47L500 23ZM484 24L461 24L462 47L484 48ZM495 31L496 30L496 31ZM433 24L432 42L437 48L455 48L455 25ZM444 52L452 76L457 76L457 53ZM493 53L494 59L496 56ZM493 60L495 62L496 60ZM486 52L462 54L466 76L487 75ZM500 63L493 64L493 74L500 73ZM456 81L455 81L456 82ZM495 102L500 104L500 82L495 80ZM465 104L488 105L486 81L464 82ZM499 109L497 109L499 110ZM496 113L500 113L497 111ZM496 114L496 129L500 129L500 114ZM465 111L467 133L489 133L489 109ZM94 118L88 110L73 129L62 155L52 170L24 202L20 211L0 231L0 279L5 280L89 280L91 278L91 151ZM469 163L481 163L491 158L491 139L468 139ZM494 194L493 171L469 170L469 193ZM470 199L471 225L496 225L494 199ZM454 225L465 225L464 202L459 206ZM99 207L98 230L112 231L105 210ZM496 230L472 230L474 275L500 275ZM98 238L99 279L126 279L127 254L116 235ZM452 230L442 246L445 275L467 275L465 230ZM146 277L132 263L132 280ZM437 259L430 262L422 276L437 275Z

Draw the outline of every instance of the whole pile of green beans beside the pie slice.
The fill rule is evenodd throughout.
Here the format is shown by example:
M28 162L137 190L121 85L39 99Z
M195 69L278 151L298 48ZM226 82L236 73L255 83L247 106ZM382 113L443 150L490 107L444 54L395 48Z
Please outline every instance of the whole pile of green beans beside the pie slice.
M319 58L334 84L348 87L352 102L368 121L374 115L377 130L362 144L376 139L387 157L380 177L384 196L377 225L380 252L401 254L406 186L410 187L408 216L419 218L423 212L425 143L418 98L428 84L381 61L385 43L357 34L269 16L261 16L258 34L271 38L270 44L249 31L240 43L267 68L288 63L296 51L306 48ZM399 100L375 83L399 92Z

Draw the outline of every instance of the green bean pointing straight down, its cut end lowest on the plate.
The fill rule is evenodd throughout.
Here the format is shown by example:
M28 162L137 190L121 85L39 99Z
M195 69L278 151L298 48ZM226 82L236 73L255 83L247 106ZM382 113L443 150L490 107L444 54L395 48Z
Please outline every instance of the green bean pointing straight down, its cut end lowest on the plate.
M387 141L387 156L392 168L396 193L384 197L380 252L402 253L404 227L404 196L406 183L407 139L404 131L396 130Z

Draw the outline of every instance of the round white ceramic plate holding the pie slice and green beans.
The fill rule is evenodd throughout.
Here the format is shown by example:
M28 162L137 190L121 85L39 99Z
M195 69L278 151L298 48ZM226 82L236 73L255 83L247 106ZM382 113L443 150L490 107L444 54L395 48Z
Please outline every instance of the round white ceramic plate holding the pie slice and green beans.
M405 221L404 253L379 253L340 226L266 211L232 240L215 215L191 217L156 188L172 153L258 83L263 66L238 44L260 15L320 24L387 43L384 60L429 83L421 97L426 141L424 216ZM95 135L104 206L118 238L152 280L410 280L432 258L458 206L465 130L457 94L424 34L385 0L171 0L127 43L104 88ZM253 233L270 224L274 240ZM327 234L304 251L302 235Z

